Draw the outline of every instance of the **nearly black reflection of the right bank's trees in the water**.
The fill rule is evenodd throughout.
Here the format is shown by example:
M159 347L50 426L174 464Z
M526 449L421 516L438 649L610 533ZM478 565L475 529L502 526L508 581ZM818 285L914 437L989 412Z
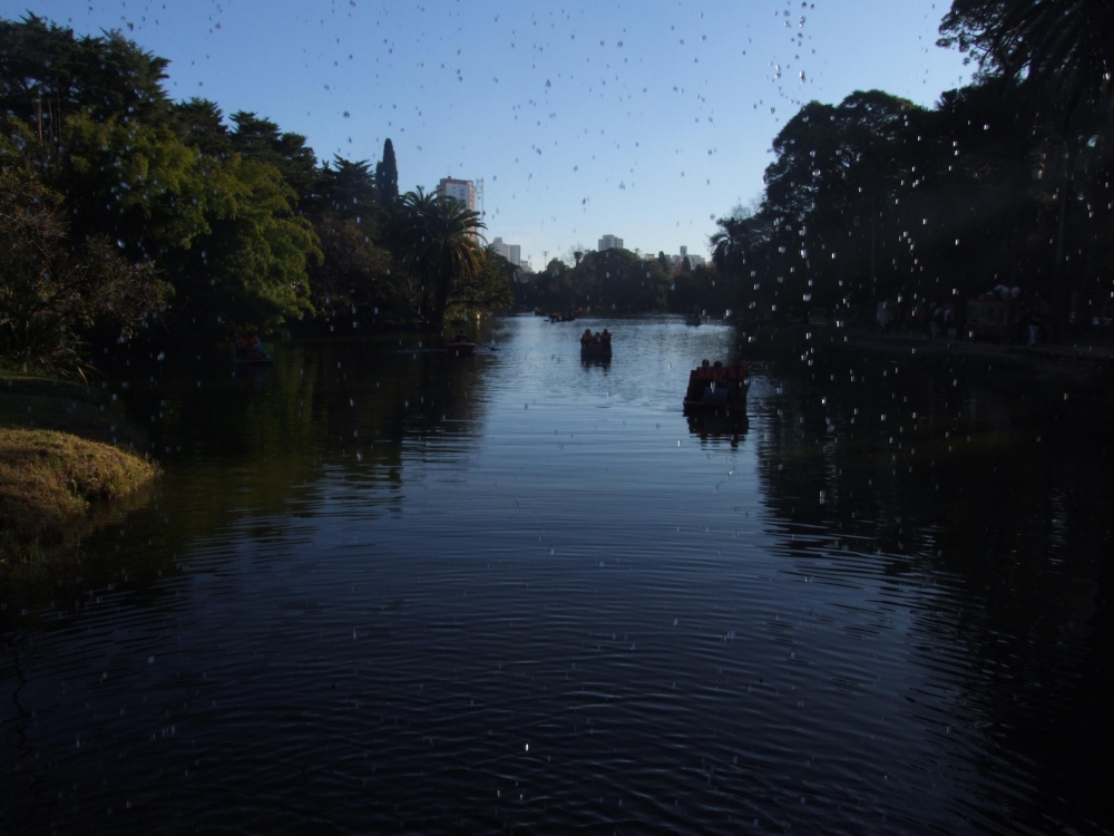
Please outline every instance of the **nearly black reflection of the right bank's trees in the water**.
M968 757L990 782L1001 757L1035 764L1051 788L1015 815L1066 811L1059 794L1111 820L1114 488L1101 418L1032 391L1010 406L1019 395L949 373L857 366L854 383L852 369L818 368L752 405L783 553L814 563L820 545L825 571L850 576L863 563L841 567L843 547L878 550L877 571L907 581L913 633L927 636L913 658L942 678L939 693L961 689L957 712L1001 747ZM964 663L941 670L938 651Z

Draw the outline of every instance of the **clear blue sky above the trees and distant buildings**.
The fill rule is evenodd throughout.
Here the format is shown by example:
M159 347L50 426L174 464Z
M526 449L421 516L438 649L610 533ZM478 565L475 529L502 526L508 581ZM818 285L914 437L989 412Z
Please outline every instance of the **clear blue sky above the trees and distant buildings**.
M170 59L172 96L251 110L322 159L377 162L402 191L483 179L487 235L535 269L605 233L706 253L714 217L762 193L802 101L879 88L931 106L968 78L929 0L0 0L78 33L121 29Z

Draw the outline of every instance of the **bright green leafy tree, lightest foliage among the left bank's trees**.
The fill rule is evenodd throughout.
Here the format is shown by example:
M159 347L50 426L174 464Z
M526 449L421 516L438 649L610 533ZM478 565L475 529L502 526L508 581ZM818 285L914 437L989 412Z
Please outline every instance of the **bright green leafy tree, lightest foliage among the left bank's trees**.
M266 332L312 309L307 266L321 251L277 168L203 155L166 126L78 116L65 139L48 176L75 234L158 264L172 323Z

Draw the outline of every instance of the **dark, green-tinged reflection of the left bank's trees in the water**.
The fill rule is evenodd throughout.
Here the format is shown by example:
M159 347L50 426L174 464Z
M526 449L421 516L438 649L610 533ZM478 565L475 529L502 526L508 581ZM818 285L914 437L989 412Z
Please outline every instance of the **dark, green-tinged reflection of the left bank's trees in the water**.
M233 526L253 539L295 541L322 506L323 480L359 492L368 513L385 511L403 487L405 444L439 440L451 463L480 434L485 358L323 341L277 347L273 368L245 373L223 352L202 357L127 367L129 412L155 417L165 474L145 507L119 509L84 541L80 560L9 590L6 615L17 611L11 594L31 611L82 609L90 589L109 584L139 601L158 596L162 581L188 571L175 555ZM72 607L62 603L70 596Z

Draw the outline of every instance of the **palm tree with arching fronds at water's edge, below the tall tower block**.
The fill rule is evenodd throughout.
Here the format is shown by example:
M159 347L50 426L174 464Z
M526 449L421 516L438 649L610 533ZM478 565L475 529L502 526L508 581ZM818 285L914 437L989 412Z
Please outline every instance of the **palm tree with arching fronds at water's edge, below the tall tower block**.
M452 291L482 266L478 212L420 186L402 197L394 229L395 255L411 279L410 304L436 331L444 324Z

